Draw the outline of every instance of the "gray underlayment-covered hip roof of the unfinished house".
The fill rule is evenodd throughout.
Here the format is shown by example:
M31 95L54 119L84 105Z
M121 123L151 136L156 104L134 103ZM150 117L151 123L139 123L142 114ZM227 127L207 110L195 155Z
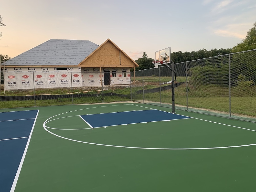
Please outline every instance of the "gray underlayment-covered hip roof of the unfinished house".
M78 65L98 47L87 40L50 39L6 61L5 65Z

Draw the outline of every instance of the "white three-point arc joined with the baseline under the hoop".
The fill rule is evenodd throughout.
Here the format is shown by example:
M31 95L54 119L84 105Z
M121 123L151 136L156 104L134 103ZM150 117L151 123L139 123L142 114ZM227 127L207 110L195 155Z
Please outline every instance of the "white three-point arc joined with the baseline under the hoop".
M129 105L134 105L134 104L129 104ZM111 105L109 105L111 106ZM135 105L135 106L140 106L140 105ZM101 107L108 107L108 106L101 106ZM144 107L144 106L140 106L140 107ZM98 108L98 107L93 107L93 108ZM144 107L144 108L148 108L148 107ZM91 108L87 108L87 109L91 109ZM148 108L148 109L152 109L152 108ZM157 110L157 109L155 109ZM74 110L74 111L78 111L78 110ZM159 110L161 111L161 110ZM70 111L70 112L73 112L73 111ZM165 111L167 112L167 111ZM68 113L68 112L66 112ZM170 113L170 112L167 112L167 113ZM64 113L61 113L61 114L64 114ZM58 114L58 115L61 115L61 114ZM55 116L58 116L58 115L55 115ZM177 114L178 115L178 114ZM245 147L245 146L253 146L253 145L256 145L256 143L254 144L248 144L248 145L236 145L236 146L225 146L225 147L205 147L205 148L150 148L150 147L129 147L129 146L118 146L118 145L106 145L106 144L99 144L99 143L90 143L90 142L85 142L85 141L78 141L78 140L74 140L74 139L70 139L70 138L66 138L66 137L62 137L60 135L57 135L55 133L52 133L50 132L48 129L46 129L46 123L48 122L49 119L55 117L55 116L52 116L50 118L48 118L44 124L43 124L43 127L44 129L51 133L52 135L55 135L57 137L60 137L60 138L63 138L63 139L67 139L69 141L76 141L76 142L79 142L79 143L86 143L86 144L93 144L93 145L101 145L101 146L109 146L109 147L121 147L121 148L133 148L133 149L154 149L154 150L201 150L201 149L221 149L221 148L235 148L235 147ZM185 115L181 115L181 116L185 116ZM186 116L186 117L189 117L189 116ZM191 119L198 119L198 118L192 118L190 117ZM198 120L203 120L203 119L198 119ZM203 121L207 121L207 120L203 120ZM217 122L213 122L213 121L208 121L208 122L212 122L212 123L217 123ZM217 124L221 124L221 123L217 123ZM227 124L222 124L222 125L227 125ZM227 126L231 126L231 127L236 127L236 126L232 126L232 125L227 125ZM236 128L241 128L241 129L245 129L245 128L242 128L242 127L236 127ZM250 129L246 129L246 130L250 130ZM255 130L250 130L250 131L255 131Z

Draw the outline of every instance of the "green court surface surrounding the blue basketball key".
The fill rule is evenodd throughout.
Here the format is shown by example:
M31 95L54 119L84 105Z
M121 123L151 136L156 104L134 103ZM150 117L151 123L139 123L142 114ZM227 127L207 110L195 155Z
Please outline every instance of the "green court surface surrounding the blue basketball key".
M92 129L79 116L172 112L135 102L0 112L35 109L15 191L255 191L254 123L176 110L191 118Z

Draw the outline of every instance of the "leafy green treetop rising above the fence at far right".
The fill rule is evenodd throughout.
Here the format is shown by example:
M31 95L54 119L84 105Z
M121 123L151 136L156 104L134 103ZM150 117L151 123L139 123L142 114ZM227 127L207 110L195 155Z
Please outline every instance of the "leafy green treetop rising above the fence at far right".
M242 39L242 42L234 46L232 51L240 52L252 49L256 49L256 22L253 24L253 27L247 31L247 35Z

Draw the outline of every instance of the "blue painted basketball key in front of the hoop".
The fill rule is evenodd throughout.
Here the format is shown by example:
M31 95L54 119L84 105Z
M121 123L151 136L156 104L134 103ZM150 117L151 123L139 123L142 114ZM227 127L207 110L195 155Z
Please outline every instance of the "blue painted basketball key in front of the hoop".
M100 113L81 115L80 117L92 128L190 118L159 110Z

